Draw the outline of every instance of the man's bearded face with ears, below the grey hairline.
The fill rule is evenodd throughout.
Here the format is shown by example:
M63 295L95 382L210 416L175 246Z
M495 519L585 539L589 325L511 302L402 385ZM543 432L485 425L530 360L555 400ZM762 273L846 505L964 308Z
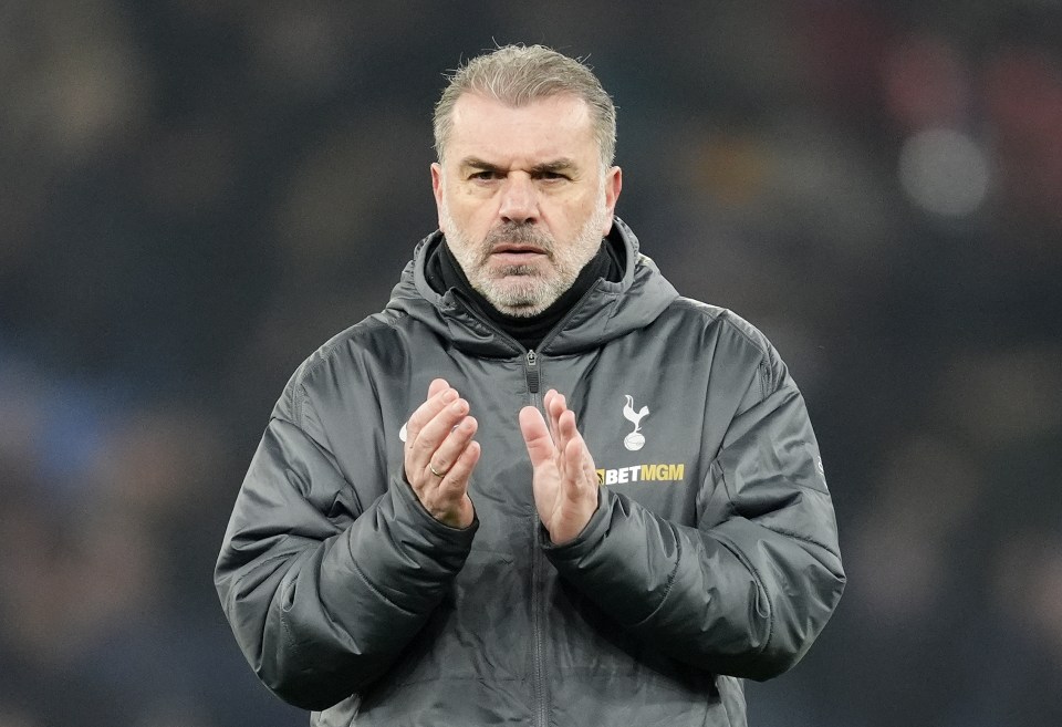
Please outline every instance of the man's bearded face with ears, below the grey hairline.
M439 228L472 288L503 313L541 313L597 252L622 186L618 167L602 174L586 102L513 108L466 93L444 156Z

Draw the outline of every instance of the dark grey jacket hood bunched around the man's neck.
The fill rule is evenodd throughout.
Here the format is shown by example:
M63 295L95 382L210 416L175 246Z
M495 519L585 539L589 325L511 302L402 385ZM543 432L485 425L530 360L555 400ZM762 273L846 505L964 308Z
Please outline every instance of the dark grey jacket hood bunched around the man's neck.
M638 238L618 217L605 241L621 252L622 280L598 278L545 336L540 353L569 354L600 346L648 325L678 298L656 263L638 251ZM522 346L478 315L460 291L451 288L439 293L428 283L426 267L441 242L442 232L436 230L417 243L386 310L424 323L467 353L497 357L522 353Z

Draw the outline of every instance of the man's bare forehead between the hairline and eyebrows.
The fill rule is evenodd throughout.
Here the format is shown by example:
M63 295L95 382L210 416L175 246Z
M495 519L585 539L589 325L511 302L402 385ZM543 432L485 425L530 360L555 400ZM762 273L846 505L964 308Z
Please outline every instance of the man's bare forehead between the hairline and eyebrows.
M560 94L510 106L466 93L454 105L447 156L455 160L581 160L596 154L590 107L577 96Z

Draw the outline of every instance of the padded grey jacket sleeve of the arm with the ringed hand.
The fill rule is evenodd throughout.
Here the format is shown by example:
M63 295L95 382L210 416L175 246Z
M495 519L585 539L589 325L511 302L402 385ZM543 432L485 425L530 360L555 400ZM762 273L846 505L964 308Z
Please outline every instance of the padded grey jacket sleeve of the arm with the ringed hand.
M302 426L308 415L292 420L291 388L237 497L215 583L266 686L324 709L392 664L462 567L478 522L436 521L402 475L364 511L336 516L337 502L356 502L353 486Z

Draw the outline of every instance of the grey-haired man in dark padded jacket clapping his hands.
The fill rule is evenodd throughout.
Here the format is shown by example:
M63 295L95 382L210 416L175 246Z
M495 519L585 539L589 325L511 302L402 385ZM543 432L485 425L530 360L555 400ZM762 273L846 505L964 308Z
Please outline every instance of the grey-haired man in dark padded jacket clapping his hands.
M250 465L216 573L237 641L319 726L745 725L741 679L844 584L796 386L613 217L581 63L473 59L435 136L440 231Z

